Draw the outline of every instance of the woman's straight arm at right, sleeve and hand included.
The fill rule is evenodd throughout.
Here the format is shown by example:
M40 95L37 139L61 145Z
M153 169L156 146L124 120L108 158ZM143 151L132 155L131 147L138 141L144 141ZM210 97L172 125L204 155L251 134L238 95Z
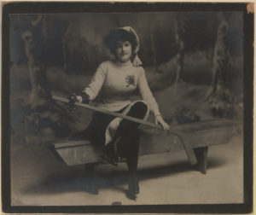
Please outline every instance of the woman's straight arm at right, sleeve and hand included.
M169 125L166 124L165 120L162 118L162 116L160 114L158 104L156 103L154 96L153 96L151 90L149 89L148 81L147 81L143 67L142 67L140 76L138 78L137 84L138 84L138 90L139 90L143 100L148 103L150 110L153 111L153 113L154 113L155 124L162 125L163 129L165 131L168 131Z

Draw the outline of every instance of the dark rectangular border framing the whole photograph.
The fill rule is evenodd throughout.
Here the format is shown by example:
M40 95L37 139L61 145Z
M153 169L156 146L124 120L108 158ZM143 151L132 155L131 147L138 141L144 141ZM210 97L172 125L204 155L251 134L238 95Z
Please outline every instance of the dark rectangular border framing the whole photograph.
M136 7L134 7L136 5ZM83 213L248 213L253 210L253 14L247 3L5 3L2 29L2 204L3 212ZM244 203L140 206L11 206L9 111L9 15L55 13L243 12Z

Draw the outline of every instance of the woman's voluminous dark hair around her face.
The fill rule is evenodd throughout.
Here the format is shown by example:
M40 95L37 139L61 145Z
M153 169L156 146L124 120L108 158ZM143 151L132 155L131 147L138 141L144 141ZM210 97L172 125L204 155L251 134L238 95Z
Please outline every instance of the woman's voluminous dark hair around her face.
M105 38L104 43L107 45L110 52L113 54L116 49L116 43L118 40L129 41L131 44L131 49L134 51L136 48L136 37L131 32L126 32L123 29L112 30L109 32L108 36Z

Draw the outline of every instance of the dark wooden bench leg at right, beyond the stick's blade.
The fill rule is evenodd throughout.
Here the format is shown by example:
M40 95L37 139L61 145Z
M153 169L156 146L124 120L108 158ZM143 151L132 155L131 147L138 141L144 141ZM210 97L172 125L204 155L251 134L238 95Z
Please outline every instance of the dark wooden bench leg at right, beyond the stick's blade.
M195 156L198 160L198 170L201 171L202 174L207 174L207 152L208 147L195 148Z

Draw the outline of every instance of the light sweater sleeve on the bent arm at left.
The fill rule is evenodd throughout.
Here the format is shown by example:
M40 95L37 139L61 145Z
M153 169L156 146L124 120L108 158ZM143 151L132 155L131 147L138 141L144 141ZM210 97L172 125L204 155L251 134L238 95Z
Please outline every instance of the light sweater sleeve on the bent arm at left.
M88 94L90 100L94 100L98 96L102 85L104 83L107 68L103 66L103 63L97 68L95 75L92 77L90 84L84 89L84 92Z

